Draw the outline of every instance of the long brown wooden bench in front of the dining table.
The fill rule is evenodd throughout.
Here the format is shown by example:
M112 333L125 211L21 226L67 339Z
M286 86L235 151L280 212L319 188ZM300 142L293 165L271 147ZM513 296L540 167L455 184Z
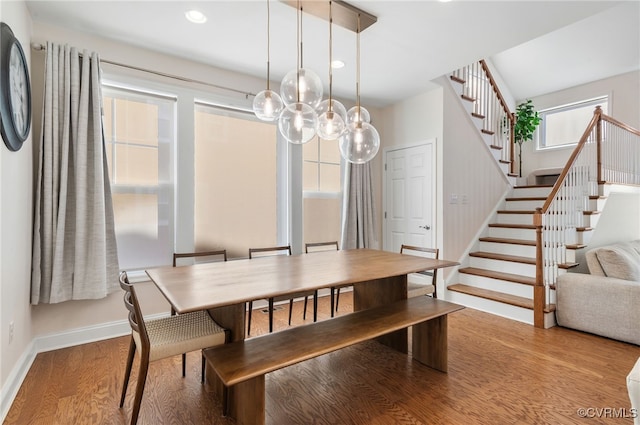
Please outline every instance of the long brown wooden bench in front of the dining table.
M265 374L413 326L413 358L447 371L447 314L464 307L417 297L318 323L206 349L208 366L228 389L225 414L264 424Z

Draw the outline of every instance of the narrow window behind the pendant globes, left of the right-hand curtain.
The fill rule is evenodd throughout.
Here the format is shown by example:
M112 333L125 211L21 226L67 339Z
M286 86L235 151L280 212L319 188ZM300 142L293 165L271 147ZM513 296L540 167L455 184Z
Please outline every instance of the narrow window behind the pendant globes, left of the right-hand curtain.
M303 145L304 241L339 241L341 156L337 140L318 137Z

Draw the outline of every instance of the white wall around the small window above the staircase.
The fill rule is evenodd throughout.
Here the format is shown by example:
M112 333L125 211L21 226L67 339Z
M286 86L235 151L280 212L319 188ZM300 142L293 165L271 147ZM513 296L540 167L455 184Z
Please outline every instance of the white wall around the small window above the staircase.
M640 71L629 72L566 90L532 98L537 110L609 96L609 114L633 128L640 129ZM518 102L520 103L520 102ZM585 126L586 128L586 126ZM573 152L573 147L536 151L535 142L522 145L522 176L538 168L562 167Z

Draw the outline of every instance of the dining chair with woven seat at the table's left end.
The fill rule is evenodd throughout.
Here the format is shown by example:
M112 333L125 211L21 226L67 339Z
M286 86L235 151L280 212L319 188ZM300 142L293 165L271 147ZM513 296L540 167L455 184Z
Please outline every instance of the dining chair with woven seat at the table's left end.
M204 310L145 320L140 309L135 285L129 283L126 272L120 274L120 287L125 291L124 305L129 311L129 325L131 326L131 341L129 342L120 408L124 405L133 359L137 350L140 353L140 369L131 412L131 425L135 425L138 422L140 403L150 362L221 345L227 342L229 337L228 332ZM205 357L203 355L202 382L204 382L204 368ZM223 394L223 398L225 398L225 394ZM226 403L226 400L223 402Z

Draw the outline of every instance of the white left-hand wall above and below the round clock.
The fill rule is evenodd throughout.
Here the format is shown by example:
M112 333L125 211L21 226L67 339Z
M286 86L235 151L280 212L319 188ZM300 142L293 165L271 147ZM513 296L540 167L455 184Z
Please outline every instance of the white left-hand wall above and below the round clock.
M23 1L2 2L0 19L8 24L22 44L27 61L31 51L31 18ZM33 113L38 106L33 105ZM32 131L33 134L33 131ZM29 307L31 278L31 212L33 208L32 137L18 152L0 146L0 383L2 398L12 389L14 366L32 340ZM14 337L9 343L9 323L14 322ZM7 406L1 406L4 413Z

